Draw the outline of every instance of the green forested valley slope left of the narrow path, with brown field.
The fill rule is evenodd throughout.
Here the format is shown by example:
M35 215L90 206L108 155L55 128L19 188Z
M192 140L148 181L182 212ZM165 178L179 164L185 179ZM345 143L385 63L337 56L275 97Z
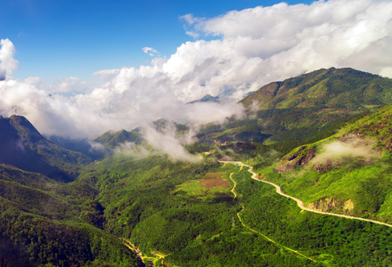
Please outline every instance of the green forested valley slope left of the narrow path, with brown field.
M238 169L118 155L90 166L80 179L100 191L105 229L145 256L163 255L176 266L314 266L241 226L241 202L233 199L229 178Z

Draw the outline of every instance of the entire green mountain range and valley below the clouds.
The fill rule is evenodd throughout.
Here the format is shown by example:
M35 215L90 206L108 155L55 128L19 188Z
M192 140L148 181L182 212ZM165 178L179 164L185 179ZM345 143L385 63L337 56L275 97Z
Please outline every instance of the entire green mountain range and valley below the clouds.
M9 266L392 264L392 227L307 212L257 182L392 226L392 80L319 69L239 103L245 117L204 125L185 147L196 162L110 152L151 150L139 128L96 138L98 157L87 142L52 142L25 117L0 117L0 254ZM169 123L189 130L152 125Z

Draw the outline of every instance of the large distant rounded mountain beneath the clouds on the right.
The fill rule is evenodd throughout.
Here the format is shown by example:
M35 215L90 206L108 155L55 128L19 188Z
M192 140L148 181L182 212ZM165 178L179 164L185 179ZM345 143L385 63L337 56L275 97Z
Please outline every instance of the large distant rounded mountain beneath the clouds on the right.
M355 69L319 69L258 89L240 101L248 117L209 126L204 140L305 140L348 118L392 103L392 79Z

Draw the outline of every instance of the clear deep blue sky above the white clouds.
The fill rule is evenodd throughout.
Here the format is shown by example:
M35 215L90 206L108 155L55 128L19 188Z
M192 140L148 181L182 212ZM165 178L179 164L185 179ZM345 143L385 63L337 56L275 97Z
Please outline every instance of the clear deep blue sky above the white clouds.
M94 71L148 64L153 47L170 56L194 41L180 17L212 18L232 10L281 1L3 0L0 38L16 48L14 77L80 77ZM289 4L311 1L288 1Z

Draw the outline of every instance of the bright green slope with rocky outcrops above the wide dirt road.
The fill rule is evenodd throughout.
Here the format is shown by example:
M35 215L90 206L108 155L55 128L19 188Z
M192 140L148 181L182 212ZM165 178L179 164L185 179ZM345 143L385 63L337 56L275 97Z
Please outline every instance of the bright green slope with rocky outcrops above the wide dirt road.
M391 117L390 105L359 117L260 174L307 206L392 223Z

